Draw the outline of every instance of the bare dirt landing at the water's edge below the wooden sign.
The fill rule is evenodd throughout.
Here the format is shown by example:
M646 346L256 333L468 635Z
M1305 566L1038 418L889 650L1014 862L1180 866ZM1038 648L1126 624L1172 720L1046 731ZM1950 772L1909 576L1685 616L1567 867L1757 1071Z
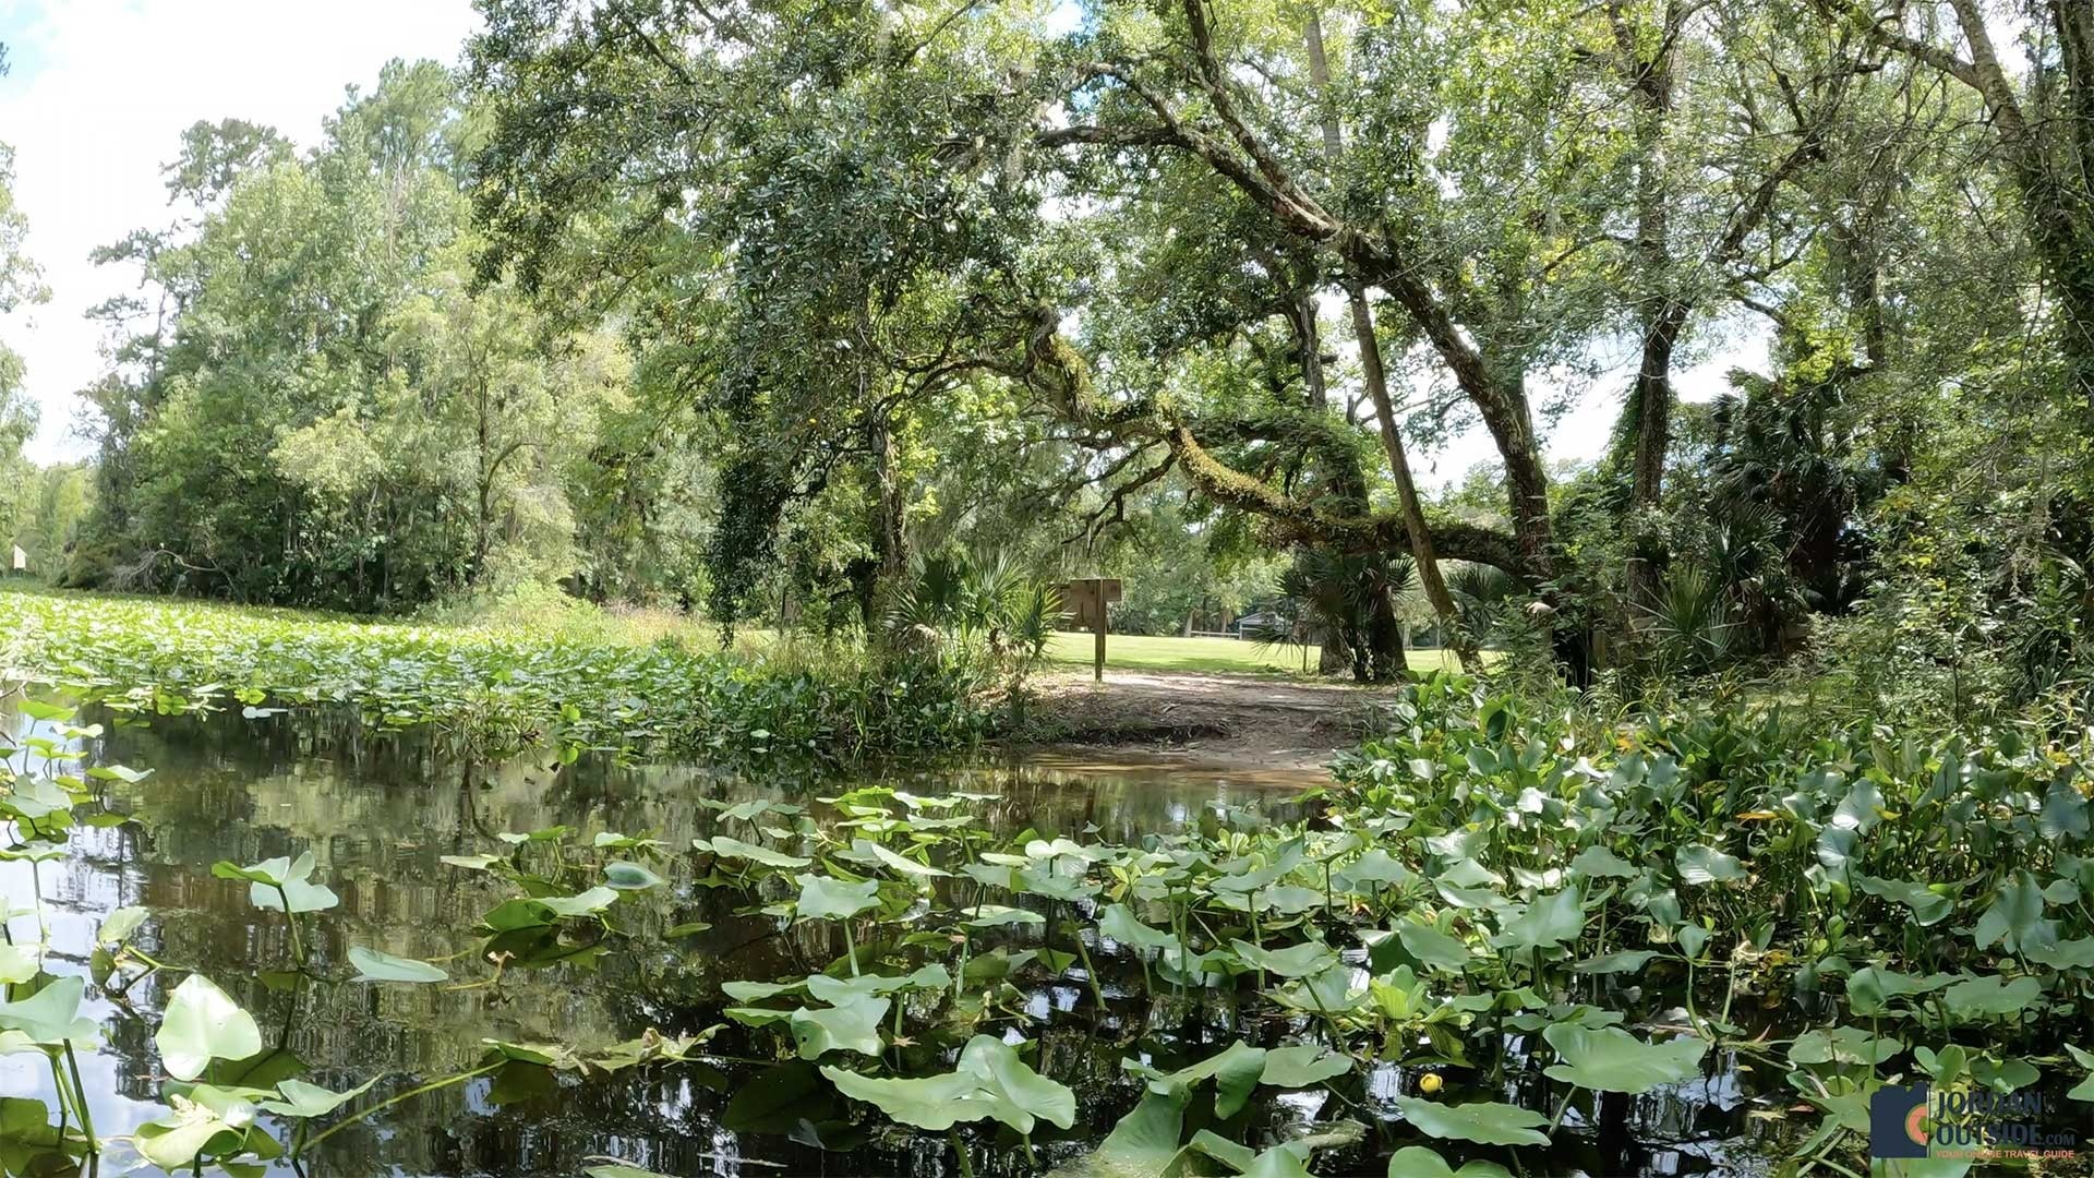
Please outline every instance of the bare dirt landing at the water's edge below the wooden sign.
M1191 671L1057 671L1034 681L1043 744L1139 746L1189 763L1313 769L1359 742L1384 688Z

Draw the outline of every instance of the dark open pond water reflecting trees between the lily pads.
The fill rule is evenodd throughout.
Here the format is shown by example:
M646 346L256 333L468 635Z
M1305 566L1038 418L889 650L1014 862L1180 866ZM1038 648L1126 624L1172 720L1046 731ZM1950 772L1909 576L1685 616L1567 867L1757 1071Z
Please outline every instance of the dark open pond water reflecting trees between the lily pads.
M19 715L0 715L0 729L23 734ZM498 832L565 824L599 830L651 832L670 847L714 832L714 811L697 799L789 799L815 805L846 784L716 773L691 765L618 765L553 757L500 765L459 763L413 736L371 736L354 721L325 717L239 715L168 717L151 725L111 725L90 748L90 761L147 765L153 776L111 792L103 826L75 826L69 855L42 866L42 897L50 920L57 973L86 973L94 931L124 906L153 912L140 935L165 973L128 991L136 1012L155 1012L186 970L201 970L255 1015L264 1035L295 1056L304 1077L352 1088L385 1075L373 1098L406 1092L431 1079L473 1069L484 1040L597 1048L647 1029L695 1033L720 1023L720 983L802 977L842 952L829 924L779 929L779 920L743 914L735 889L689 889L681 880L670 918L704 920L704 933L674 941L649 939L647 954L605 954L588 968L565 964L507 970L496 987L366 985L289 981L260 975L287 960L279 912L249 903L247 885L214 878L218 859L237 864L312 851L316 880L333 887L341 906L308 918L314 973L348 977L350 945L423 960L446 960L461 979L480 979L471 926L513 887L486 874L446 866L440 855L500 849ZM997 794L980 803L1003 832L1034 828L1043 836L1137 843L1148 832L1215 824L1225 811L1298 815L1294 794L1315 776L1229 773L1168 761L1116 757L1034 757L1024 763L970 763L884 769L875 773L913 792L970 790ZM819 811L819 805L817 805ZM0 893L25 903L27 864L0 864ZM1032 941L1039 941L1039 933ZM810 1063L779 1063L779 1035L731 1025L708 1046L710 1063L687 1063L578 1077L513 1065L467 1084L442 1088L383 1111L331 1136L304 1159L314 1176L450 1176L450 1174L580 1174L591 1159L618 1157L674 1176L695 1174L951 1174L955 1142L974 1174L1034 1174L1081 1157L1141 1096L1120 1065L1148 1059L1160 1067L1200 1061L1235 1040L1277 1042L1277 1019L1250 1021L1223 991L1137 994L1139 962L1095 945L1104 975L1104 1012L1083 981L1030 983L1024 1006L990 1031L1016 1031L1039 1042L1034 1067L1076 1092L1072 1132L1041 1126L1034 1153L993 1121L959 1134L919 1134L856 1111L815 1077ZM1129 977L1133 983L1129 983ZM80 1061L96 1128L109 1134L161 1113L155 1103L163 1075L153 1048L153 1023L115 1008L90 987L92 1017L107 1044ZM951 1038L926 1033L896 1048L923 1071L944 1065ZM1516 1044L1514 1044L1516 1048ZM789 1048L787 1048L789 1050ZM1508 1052L1516 1054L1516 1052ZM1711 1056L1715 1059L1715 1056ZM1700 1174L1761 1172L1761 1155L1782 1126L1748 1117L1751 1075L1719 1069L1711 1079L1638 1098L1581 1098L1550 1155L1552 1174ZM266 1079L264 1079L266 1082ZM1336 1082L1330 1092L1258 1090L1227 1130L1250 1144L1282 1140L1305 1126L1340 1117L1367 1126L1351 1147L1319 1153L1319 1172L1382 1174L1382 1157L1401 1144L1426 1142L1401 1124L1393 1098L1416 1090L1416 1075L1382 1067ZM1510 1069L1478 1096L1543 1107L1547 1084ZM36 1054L0 1056L0 1096L50 1100L50 1075ZM362 1103L369 1103L362 1100ZM1543 1111L1552 1111L1543 1107ZM1187 1126L1191 1132L1191 1126ZM1453 1144L1453 1142L1445 1142ZM1470 1149L1472 1153L1464 1153ZM1533 1151L1524 1151L1531 1159ZM1499 1157L1487 1147L1447 1149L1449 1159ZM289 1163L276 1163L291 1172Z

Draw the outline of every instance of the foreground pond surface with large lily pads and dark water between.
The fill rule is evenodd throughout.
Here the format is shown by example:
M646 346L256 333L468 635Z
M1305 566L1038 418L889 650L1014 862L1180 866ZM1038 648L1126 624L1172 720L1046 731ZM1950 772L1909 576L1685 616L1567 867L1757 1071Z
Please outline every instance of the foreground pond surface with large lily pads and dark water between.
M605 1142L574 1159L601 1176L815 1157L1072 1178L1859 1174L1887 1086L2014 1098L2044 1134L2094 1100L2086 778L2075 746L2012 732L1809 736L1772 713L1585 727L1432 679L1288 805L1223 788L1166 820L1097 794L1020 805L963 773L634 780L614 805L586 767L521 763L513 790L467 767L417 786L454 809L385 834L419 864L392 878L331 866L377 838L341 801L389 786L299 809L318 752L379 752L285 717L201 725L276 732L297 769L224 803L274 822L268 847L235 834L243 853L188 861L182 807L243 776L172 788L71 704L19 708L0 794L0 1050L36 1065L6 1073L25 1084L0 1109L17 1174L377 1172L421 1107L547 1119ZM503 822L547 792L595 799L574 811L591 817ZM647 822L597 822L614 815ZM46 880L147 845L188 861L165 903L71 926L88 889ZM408 893L450 918L379 937L371 914ZM364 1048L312 1029L329 1019L406 1035L417 1065L358 1067ZM111 1056L140 1077L132 1124L94 1117L86 1075ZM1935 1130L1899 1172L1998 1165L1968 1155L2004 1149L1977 1126Z

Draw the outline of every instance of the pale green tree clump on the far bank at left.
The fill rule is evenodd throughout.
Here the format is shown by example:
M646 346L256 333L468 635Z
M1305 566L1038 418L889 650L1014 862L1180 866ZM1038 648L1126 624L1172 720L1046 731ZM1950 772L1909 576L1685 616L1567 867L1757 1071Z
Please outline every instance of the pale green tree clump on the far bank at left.
M105 308L132 333L94 390L77 581L364 610L582 568L567 488L628 361L473 283L471 149L431 63L352 90L306 157L237 119L184 134L191 220L107 252L149 293Z

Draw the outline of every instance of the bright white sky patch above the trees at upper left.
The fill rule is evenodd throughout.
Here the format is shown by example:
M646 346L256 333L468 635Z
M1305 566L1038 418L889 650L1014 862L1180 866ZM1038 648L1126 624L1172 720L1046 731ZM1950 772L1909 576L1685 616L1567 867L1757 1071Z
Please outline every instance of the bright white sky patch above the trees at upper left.
M471 0L0 0L0 140L52 300L0 319L42 407L29 457L80 457L73 396L103 371L82 312L136 281L88 252L170 220L159 168L197 119L270 124L299 147L348 84L394 57L459 59Z

